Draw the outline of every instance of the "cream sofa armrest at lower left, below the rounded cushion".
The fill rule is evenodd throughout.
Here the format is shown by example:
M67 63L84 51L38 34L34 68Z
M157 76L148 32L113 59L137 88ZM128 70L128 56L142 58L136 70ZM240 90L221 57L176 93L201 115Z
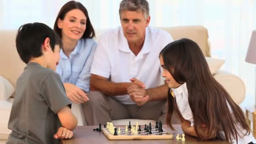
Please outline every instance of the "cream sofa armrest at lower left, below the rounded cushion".
M0 101L0 139L8 139L8 136L11 133L11 130L8 129L11 107L11 102Z

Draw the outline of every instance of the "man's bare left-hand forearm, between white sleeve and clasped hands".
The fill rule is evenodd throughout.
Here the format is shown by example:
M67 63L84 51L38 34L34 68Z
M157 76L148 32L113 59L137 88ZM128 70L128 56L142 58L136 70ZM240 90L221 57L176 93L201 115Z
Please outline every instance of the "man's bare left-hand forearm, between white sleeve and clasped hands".
M106 77L91 74L91 91L101 91L108 96L125 95L130 85L131 83L113 83Z

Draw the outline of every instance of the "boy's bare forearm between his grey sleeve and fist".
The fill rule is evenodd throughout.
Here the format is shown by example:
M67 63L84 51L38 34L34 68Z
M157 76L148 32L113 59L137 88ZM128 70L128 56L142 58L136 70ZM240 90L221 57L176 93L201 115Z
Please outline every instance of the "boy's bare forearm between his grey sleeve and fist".
M59 117L59 120L61 121L61 125L64 128L73 131L77 127L77 118L68 106L62 107L57 112L57 115Z

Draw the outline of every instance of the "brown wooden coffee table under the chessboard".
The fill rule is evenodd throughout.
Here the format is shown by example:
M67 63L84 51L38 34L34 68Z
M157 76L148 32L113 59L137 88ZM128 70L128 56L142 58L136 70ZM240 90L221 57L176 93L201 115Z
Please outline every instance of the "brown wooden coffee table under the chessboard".
M93 128L99 126L77 126L74 131L74 137L68 140L61 140L61 144L229 144L227 141L216 139L214 141L198 142L195 137L185 136L186 141L176 140L176 135L180 136L183 133L181 125L173 125L177 131L171 131L167 125L163 125L167 131L173 133L173 139L153 139L153 140L109 140L107 137L98 131L93 131Z

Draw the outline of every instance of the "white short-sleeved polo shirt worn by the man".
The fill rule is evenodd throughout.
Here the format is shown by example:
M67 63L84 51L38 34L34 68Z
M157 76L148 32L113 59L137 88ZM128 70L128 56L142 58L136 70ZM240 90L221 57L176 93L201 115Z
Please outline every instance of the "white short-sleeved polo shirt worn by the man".
M144 45L135 56L123 35L122 27L108 30L99 40L91 73L110 78L115 83L131 82L130 78L136 77L146 88L163 85L159 53L172 41L173 38L168 32L147 27ZM129 95L114 98L122 104L135 104Z

